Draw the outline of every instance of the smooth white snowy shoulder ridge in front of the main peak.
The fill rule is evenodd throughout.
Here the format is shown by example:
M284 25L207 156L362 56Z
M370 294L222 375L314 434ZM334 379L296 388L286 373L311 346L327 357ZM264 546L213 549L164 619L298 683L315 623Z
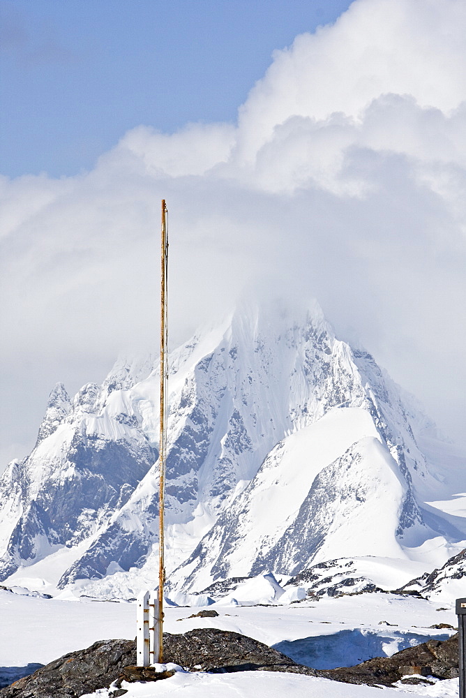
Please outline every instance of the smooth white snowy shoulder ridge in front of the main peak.
M404 558L397 533L407 490L370 414L334 408L270 452L204 538L204 549L193 557L199 565L186 584L204 588L211 579L264 569L296 574L311 560L343 551ZM232 538L241 545L232 545Z

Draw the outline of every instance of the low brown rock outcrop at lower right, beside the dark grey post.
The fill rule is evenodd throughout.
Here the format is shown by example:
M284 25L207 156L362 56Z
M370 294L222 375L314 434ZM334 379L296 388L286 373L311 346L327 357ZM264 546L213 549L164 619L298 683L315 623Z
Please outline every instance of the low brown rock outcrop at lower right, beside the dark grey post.
M456 678L458 671L458 634L443 642L428 640L408 647L391 657L375 657L355 667L323 669L321 676L345 683L391 685L407 674Z

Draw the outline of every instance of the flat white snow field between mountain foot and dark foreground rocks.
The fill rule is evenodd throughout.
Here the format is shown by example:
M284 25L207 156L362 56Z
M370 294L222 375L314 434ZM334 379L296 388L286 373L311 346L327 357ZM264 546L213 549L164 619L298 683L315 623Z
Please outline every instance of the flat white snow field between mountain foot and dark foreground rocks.
M277 607L217 603L209 606L218 611L216 618L188 618L199 607L166 607L164 630L183 633L194 628L220 628L240 632L269 646L308 637L336 636L342 630L360 630L369 639L370 633L375 634L377 647L385 644L386 653L393 654L411 644L413 636L417 637L413 644L418 644L423 637L448 634L449 631L428 627L435 623L456 625L454 609L436 611L438 607L428 601L390 594L363 594ZM133 639L136 634L135 604L125 602L47 600L0 591L0 617L3 667L22 667L29 662L47 664L97 640ZM379 625L380 621L393 625ZM347 634L347 639L351 644L351 634ZM345 636L340 641L333 637L326 640L329 651L334 648L335 659L340 659L345 641ZM373 651L369 645L368 651Z

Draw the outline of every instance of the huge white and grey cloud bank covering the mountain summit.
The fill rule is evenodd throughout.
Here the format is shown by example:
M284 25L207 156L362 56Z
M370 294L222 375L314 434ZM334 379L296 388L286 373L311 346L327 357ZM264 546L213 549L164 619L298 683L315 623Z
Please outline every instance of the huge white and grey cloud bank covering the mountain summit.
M236 124L137 126L91 172L1 178L8 455L57 380L156 346L161 198L174 343L245 288L315 296L460 438L465 31L461 0L356 0L274 54Z

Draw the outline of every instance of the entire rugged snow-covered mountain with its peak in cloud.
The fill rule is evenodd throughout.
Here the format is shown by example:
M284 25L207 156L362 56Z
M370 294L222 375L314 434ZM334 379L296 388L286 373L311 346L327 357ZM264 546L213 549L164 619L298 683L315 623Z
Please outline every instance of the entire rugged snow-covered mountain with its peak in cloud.
M169 390L172 590L351 556L428 569L466 540L445 505L466 468L453 473L429 420L317 305L241 306L172 352ZM73 401L54 388L36 447L1 478L0 579L93 595L153 586L157 406L152 357L117 362Z

